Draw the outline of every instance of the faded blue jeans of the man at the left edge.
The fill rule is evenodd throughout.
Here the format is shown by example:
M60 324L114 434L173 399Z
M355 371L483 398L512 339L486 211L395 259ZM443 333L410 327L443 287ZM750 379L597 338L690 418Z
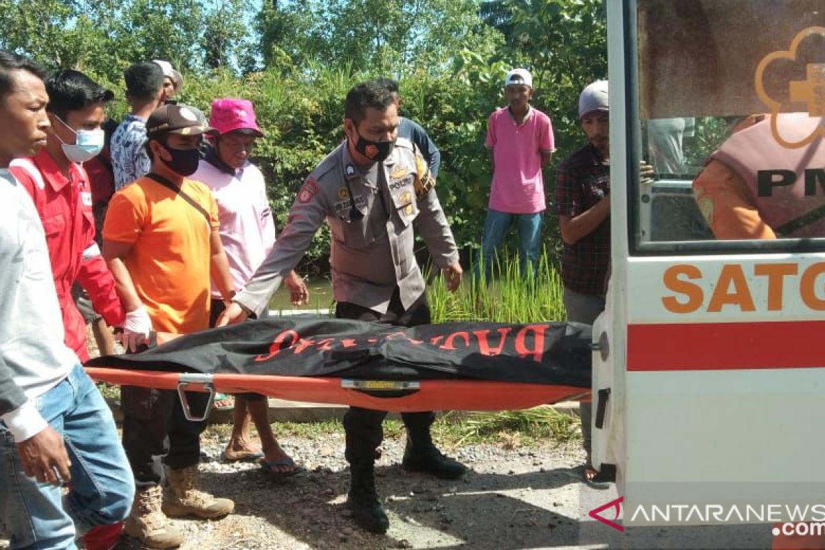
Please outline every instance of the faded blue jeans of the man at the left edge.
M80 364L35 404L64 437L72 461L70 490L64 496L61 487L26 477L12 435L0 422L0 518L10 548L77 548L78 533L129 515L132 472L111 411Z

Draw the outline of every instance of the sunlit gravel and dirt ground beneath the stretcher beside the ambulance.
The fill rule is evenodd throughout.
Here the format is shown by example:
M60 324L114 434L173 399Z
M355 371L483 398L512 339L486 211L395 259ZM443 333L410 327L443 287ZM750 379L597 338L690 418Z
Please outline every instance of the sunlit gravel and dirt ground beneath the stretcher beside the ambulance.
M282 444L307 472L287 481L257 464L221 463L224 442L205 440L205 486L232 498L219 521L182 520L181 548L544 548L576 544L581 452L576 444L540 449L469 445L454 456L472 471L445 482L398 466L403 442L386 440L377 485L390 517L384 536L367 534L347 514L349 471L342 433ZM119 548L142 548L127 540Z

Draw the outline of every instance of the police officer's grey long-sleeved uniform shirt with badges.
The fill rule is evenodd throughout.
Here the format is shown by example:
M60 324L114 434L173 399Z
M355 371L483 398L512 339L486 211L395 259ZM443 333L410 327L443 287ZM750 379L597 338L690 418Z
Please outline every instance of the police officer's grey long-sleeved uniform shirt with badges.
M425 288L413 253L413 221L436 266L459 261L434 186L427 162L408 140L398 139L389 158L365 172L345 141L304 182L275 247L234 300L255 313L266 309L326 219L334 298L386 313L398 286L408 308ZM360 216L352 215L353 204Z

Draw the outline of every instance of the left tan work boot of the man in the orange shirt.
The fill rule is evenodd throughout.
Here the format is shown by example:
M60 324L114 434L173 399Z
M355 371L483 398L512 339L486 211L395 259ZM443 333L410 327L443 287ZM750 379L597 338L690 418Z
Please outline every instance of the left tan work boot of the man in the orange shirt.
M137 538L148 548L175 548L183 543L183 534L163 515L161 501L163 487L155 485L138 489L124 533Z

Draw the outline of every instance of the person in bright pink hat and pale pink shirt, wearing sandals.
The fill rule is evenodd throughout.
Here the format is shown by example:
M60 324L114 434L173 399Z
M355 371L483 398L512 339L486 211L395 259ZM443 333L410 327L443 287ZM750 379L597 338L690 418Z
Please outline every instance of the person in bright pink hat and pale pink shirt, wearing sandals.
M275 244L275 220L266 199L263 174L249 162L255 141L263 137L258 128L252 102L244 99L217 99L212 101L210 126L219 135L206 150L198 171L191 179L200 181L212 190L218 204L220 241L229 259L229 273L236 289L241 289L266 258ZM309 301L304 280L290 271L285 280L292 303ZM218 289L212 288L210 327L214 327L224 301ZM226 460L260 458L262 467L275 477L291 476L300 471L292 458L272 433L268 418L266 396L241 393L235 396L232 435L224 450ZM255 423L261 438L261 449L249 439L250 420Z

